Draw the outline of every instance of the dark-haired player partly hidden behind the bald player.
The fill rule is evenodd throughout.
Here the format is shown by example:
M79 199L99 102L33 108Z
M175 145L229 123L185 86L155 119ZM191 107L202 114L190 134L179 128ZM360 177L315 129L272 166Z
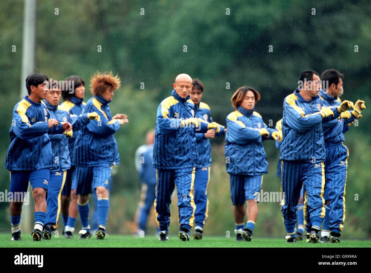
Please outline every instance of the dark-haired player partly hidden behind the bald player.
M193 89L190 92L190 98L195 106L195 117L201 118L209 123L213 122L210 113L210 107L201 101L204 84L199 79L193 79ZM211 165L211 144L209 139L215 136L224 135L227 131L219 124L220 131L216 133L214 129L208 130L206 133L196 132L196 143L198 151L198 167L194 173L194 204L196 211L194 213L194 228L193 238L196 240L202 239L203 227L206 223L209 211L209 200L207 199L207 186L210 180L210 165Z

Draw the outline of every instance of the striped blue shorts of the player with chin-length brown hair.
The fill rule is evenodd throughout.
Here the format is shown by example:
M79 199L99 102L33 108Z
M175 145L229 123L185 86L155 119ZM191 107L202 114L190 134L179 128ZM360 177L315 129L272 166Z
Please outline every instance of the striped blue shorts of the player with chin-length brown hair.
M229 174L230 191L233 205L245 204L246 200L255 199L260 193L263 176Z

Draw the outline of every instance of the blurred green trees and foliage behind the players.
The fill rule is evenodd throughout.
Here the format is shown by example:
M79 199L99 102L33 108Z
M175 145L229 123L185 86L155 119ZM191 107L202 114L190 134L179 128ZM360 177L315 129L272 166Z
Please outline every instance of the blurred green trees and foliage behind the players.
M24 81L20 79L24 4L3 0L0 8L0 165L4 166L12 110L20 100L20 81ZM227 8L230 15L226 15ZM299 74L306 69L320 74L328 68L338 69L345 74L342 99L362 99L371 107L370 1L39 0L36 32L35 72L53 79L80 75L86 82L85 101L91 97L89 79L94 72L112 70L121 77L122 87L115 92L111 110L127 114L129 123L115 134L121 165L113 181L110 233L135 231L139 181L134 153L144 144L146 131L154 128L157 106L170 95L171 84L180 73L204 82L203 101L221 124L233 111L233 92L249 85L262 95L256 110L274 127L282 116L283 99L295 90ZM102 52L97 51L98 45ZM187 52L183 52L184 45ZM273 52L268 51L269 45ZM371 237L367 220L371 218L370 111L366 109L359 126L352 126L345 135L350 156L344 238ZM222 235L233 233L234 220L224 140L212 143L205 234ZM262 189L276 192L280 190L280 179L275 177L279 151L272 141L265 142L265 149L269 174L264 176ZM6 169L0 168L0 178L0 190L9 189ZM171 232L178 229L173 197ZM149 225L150 233L155 233L154 214ZM0 230L10 230L6 202L0 203ZM255 234L285 234L278 202L259 204Z

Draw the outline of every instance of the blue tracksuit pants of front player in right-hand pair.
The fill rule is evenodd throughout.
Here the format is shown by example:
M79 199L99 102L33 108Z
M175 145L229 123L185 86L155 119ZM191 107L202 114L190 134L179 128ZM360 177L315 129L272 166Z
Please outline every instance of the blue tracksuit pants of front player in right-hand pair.
M295 234L296 212L302 185L304 193L304 224L318 230L325 216L325 166L324 162L282 161L281 191L284 195L281 207L283 223L288 235Z

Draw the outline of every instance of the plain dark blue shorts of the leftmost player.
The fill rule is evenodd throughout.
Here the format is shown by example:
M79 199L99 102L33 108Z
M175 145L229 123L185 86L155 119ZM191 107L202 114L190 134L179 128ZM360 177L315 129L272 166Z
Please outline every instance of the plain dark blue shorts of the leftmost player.
M10 189L14 195L17 192L27 192L28 182L30 181L32 189L47 189L49 183L49 168L39 170L12 170L10 171Z

